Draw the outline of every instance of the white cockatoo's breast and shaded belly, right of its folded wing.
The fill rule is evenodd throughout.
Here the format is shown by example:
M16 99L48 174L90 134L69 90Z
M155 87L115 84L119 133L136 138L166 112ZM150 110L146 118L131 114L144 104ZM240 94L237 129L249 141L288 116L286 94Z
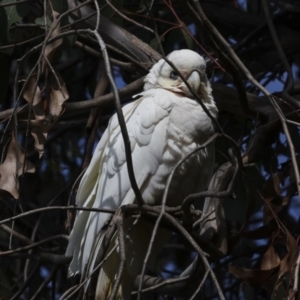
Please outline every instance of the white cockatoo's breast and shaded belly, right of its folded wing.
M212 134L212 122L199 105L192 100L188 104L174 105L166 124L165 146L160 165L151 176L143 195L148 204L161 204L166 182L173 168ZM180 205L189 194L206 189L214 163L213 147L209 145L198 151L177 169L170 185L167 205Z

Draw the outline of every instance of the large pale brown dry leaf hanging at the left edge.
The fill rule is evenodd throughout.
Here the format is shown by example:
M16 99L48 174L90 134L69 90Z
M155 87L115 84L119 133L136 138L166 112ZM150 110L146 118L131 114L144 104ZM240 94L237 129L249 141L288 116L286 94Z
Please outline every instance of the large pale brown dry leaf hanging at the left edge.
M19 181L18 176L24 173L34 173L35 168L29 161L25 161L25 153L22 147L16 142L14 133L9 143L6 158L0 165L0 195L7 197L19 198Z

